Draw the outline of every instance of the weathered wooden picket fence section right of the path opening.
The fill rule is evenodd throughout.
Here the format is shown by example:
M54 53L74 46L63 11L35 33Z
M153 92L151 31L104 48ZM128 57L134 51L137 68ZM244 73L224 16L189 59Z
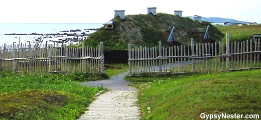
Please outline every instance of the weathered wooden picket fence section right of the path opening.
M129 45L129 76L148 74L179 74L260 68L260 39L246 42L191 44L159 48Z

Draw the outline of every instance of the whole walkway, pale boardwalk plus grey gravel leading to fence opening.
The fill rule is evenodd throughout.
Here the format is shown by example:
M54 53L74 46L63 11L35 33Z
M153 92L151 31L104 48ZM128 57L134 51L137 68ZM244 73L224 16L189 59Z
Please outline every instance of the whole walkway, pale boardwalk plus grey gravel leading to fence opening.
M79 119L140 119L140 108L136 104L138 91L128 86L131 83L124 80L125 75L127 72L107 80L81 83L87 86L103 86L111 91L96 97L88 111Z

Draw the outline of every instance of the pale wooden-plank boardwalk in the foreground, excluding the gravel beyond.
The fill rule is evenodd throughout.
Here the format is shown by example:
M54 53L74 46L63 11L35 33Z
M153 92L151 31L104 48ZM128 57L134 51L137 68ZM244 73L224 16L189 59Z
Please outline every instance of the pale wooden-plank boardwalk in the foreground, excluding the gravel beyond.
M138 91L109 91L96 97L79 119L140 119Z

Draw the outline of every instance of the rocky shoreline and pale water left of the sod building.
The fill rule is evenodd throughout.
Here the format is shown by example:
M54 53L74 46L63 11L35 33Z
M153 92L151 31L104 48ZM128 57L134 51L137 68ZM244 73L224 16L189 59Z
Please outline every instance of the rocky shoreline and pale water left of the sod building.
M0 28L5 28L0 32L0 46L29 42L33 44L40 37L48 44L82 41L102 26L99 23L0 24Z

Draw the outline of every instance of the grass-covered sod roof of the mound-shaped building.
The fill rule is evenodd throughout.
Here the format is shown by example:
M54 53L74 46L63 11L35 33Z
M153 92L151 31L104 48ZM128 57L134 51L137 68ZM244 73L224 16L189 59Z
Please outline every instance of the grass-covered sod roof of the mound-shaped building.
M116 17L113 29L100 28L85 39L85 45L96 46L103 42L104 50L126 50L128 44L133 46L158 46L158 41L167 46L167 40L174 26L174 35L178 42L190 44L190 38L201 42L205 34L205 26L210 26L209 34L216 41L220 41L224 34L208 22L195 22L190 18L158 13L153 15L127 15L125 19Z

